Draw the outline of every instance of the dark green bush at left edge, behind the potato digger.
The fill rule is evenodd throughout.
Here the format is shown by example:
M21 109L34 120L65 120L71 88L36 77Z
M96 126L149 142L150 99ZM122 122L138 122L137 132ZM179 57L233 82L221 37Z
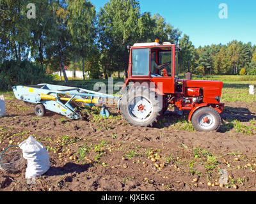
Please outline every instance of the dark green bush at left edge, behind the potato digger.
M0 66L0 90L10 91L13 85L50 83L52 77L41 66L29 61L4 61Z

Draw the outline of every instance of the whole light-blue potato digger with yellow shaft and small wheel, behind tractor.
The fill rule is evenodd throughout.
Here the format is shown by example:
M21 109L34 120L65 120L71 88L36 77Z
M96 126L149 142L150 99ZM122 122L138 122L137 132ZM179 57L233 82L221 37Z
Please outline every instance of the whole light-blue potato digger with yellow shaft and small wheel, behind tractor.
M102 94L86 89L67 87L52 84L38 84L31 86L12 87L17 99L28 105L35 105L35 114L38 117L45 115L46 110L59 113L70 119L81 119L82 115L71 105L72 102L84 103L87 106L102 105L100 115L109 117L104 99L116 99L116 96Z

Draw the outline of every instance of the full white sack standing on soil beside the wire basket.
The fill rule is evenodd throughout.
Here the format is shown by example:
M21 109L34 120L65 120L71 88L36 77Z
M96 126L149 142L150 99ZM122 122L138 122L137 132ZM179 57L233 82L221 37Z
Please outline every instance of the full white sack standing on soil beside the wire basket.
M43 175L50 168L50 159L44 146L37 142L33 136L29 136L19 145L24 159L27 159L26 179Z

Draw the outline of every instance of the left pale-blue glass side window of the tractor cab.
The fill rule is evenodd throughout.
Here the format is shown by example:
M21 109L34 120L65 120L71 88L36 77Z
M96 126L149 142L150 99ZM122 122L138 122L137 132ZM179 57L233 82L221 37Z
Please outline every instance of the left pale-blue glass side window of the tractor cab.
M149 75L149 49L132 50L132 76Z

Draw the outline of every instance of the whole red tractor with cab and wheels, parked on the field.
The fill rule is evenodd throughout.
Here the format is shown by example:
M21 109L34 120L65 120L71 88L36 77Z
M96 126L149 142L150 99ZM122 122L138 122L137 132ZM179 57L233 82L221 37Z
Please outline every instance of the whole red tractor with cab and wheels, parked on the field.
M133 126L154 126L169 105L178 113L189 111L196 131L220 128L224 104L220 103L223 82L180 80L179 47L171 43L136 43L129 47L128 77L120 111Z

